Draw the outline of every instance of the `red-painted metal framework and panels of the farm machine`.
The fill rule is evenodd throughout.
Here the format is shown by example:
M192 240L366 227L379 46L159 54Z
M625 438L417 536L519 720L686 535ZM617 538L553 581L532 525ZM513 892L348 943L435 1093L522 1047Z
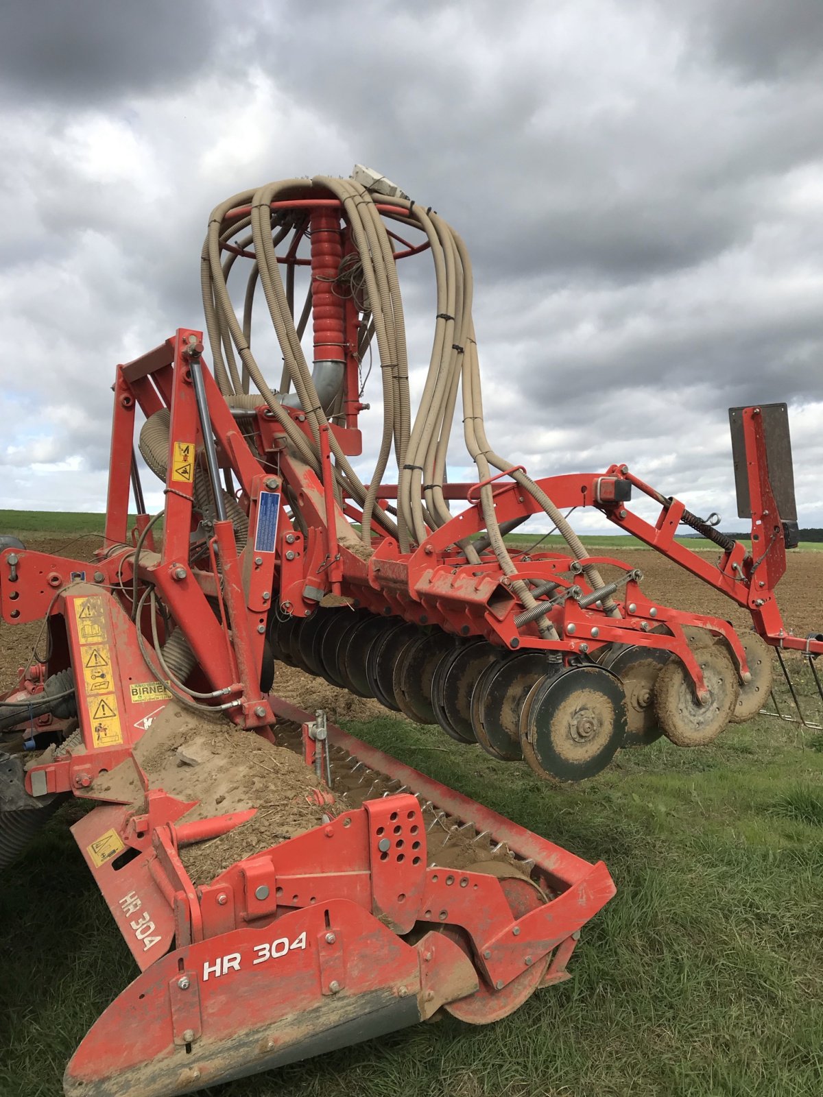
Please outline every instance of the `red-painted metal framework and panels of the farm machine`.
M305 617L328 592L374 613L439 625L460 636L483 636L511 649L555 649L565 659L590 656L611 643L664 648L679 656L700 694L704 683L684 633L686 626L698 626L725 638L745 680L745 653L728 622L651 601L639 574L622 561L587 562L622 572L622 597L605 590L599 599L612 598L618 615L607 615L583 566L568 554L516 554L512 576L503 574L488 551L480 564L469 563L459 542L485 529L480 504L484 486L495 484L495 512L501 523L539 510L509 479L520 466L480 484L446 485L446 497L464 499L466 509L412 552L402 553L375 522L371 555L364 559L351 551L350 520L358 521L361 512L353 499L338 501L330 444L334 438L343 452L360 452L360 315L352 299L335 296L328 281L351 248L345 208L330 197L275 202L272 207L304 211L308 217L311 259L297 258L295 240L282 261L311 263L315 355L346 363L345 425L322 426L316 473L289 453L284 431L261 400L248 416L252 451L203 365L217 461L238 485L248 514L248 540L238 551L232 522L204 524L194 505L194 477L206 471L188 353L201 332L180 329L160 347L117 366L105 540L95 562L27 550L0 553L3 620L23 623L48 617L54 642L48 667L30 669L15 695L35 694L47 672L71 667L83 744L82 750L64 747L31 767L26 789L33 795L71 791L105 801L95 791L99 776L134 765L134 744L171 702L179 685L169 681L166 688L158 682L157 667L150 659L147 665L140 651L142 641L144 646L151 643L151 622L145 611L135 620L135 590L145 599L153 589L183 631L196 660L189 686L201 699L211 693L212 703L223 705L236 724L267 736L279 717L302 724L309 719L261 690L270 614L277 610ZM395 218L404 215L392 205L377 208ZM226 222L248 212L230 211ZM395 238L407 248L397 258L426 246ZM170 412L159 548L146 532L147 516L138 519L138 530L145 533L139 542L128 538L138 407L147 417L165 407ZM290 416L311 434L304 411L291 409ZM759 553L734 544L717 564L694 553L675 539L684 505L665 498L624 465L612 465L605 474L538 483L556 506L595 507L618 528L747 607L770 644L823 653L823 642L793 637L782 624L775 587L786 567L785 542L757 408L743 410L743 426L753 545L763 550ZM618 501L621 482L661 505L654 524ZM396 491L395 485L382 485L380 498L394 498ZM270 530L270 543L261 545L267 493L292 500L301 523L281 506L277 531ZM525 607L512 586L517 579L554 584L544 604L557 638L545 640L533 622L520 619ZM587 597L593 593L595 598ZM659 626L665 631L653 631ZM160 632L165 637L162 624ZM546 961L544 984L565 977L580 927L615 892L605 866L588 864L339 728L330 727L329 738L370 768L506 842L534 866L534 878L553 897L516 918L495 877L428 866L425 833L413 834L413 828L419 829L419 804L403 793L342 812L195 887L179 857L180 844L225 833L249 813L181 823L192 805L149 789L138 770L145 793L139 810L103 802L72 828L142 974L83 1040L67 1085L116 1078L124 1092L150 1097L167 1093L173 1074L176 1092L189 1092L311 1053L309 1047L329 1047L336 1039L351 1042L429 1017L444 1003L471 995L478 980L489 987L511 986L539 960ZM415 857L402 858L395 847L386 855L377 832L386 834L390 824L392 833L401 828L403 840L419 842ZM425 932L416 940L401 936L420 924L444 923L458 927L472 959L448 935ZM364 1016L371 1027L363 1026ZM125 1029L128 1041L122 1040Z

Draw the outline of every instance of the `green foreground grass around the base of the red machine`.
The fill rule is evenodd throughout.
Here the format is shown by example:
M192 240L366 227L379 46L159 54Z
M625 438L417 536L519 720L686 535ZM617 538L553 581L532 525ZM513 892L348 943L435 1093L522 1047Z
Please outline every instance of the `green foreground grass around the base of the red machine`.
M823 754L759 717L710 748L662 739L552 789L435 728L350 730L589 860L618 894L570 982L486 1028L452 1018L208 1090L213 1097L816 1097L823 1092ZM64 808L0 897L2 1097L60 1093L136 974Z

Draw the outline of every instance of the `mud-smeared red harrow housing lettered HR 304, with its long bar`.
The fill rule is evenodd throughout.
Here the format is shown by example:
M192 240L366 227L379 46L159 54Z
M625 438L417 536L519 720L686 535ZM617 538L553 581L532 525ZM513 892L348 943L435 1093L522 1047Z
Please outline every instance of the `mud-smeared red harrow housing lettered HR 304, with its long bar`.
M309 719L275 703L283 716ZM533 861L532 875L556 897L516 918L495 877L427 866L420 803L408 793L367 801L203 887L177 856L185 825L173 819L188 805L151 793L148 814L131 823L122 806L98 807L74 834L145 970L83 1039L66 1072L67 1094L188 1093L426 1019L477 992L478 973L495 987L495 1016L507 1011L507 991L510 1008L522 1000L518 979L546 957L541 985L567 977L582 926L615 894L606 866L339 727L329 726L329 739ZM127 840L135 825L145 828L143 851L122 866L116 857L98 864L92 850L112 833ZM471 948L441 932L447 924ZM172 938L177 948L162 955Z

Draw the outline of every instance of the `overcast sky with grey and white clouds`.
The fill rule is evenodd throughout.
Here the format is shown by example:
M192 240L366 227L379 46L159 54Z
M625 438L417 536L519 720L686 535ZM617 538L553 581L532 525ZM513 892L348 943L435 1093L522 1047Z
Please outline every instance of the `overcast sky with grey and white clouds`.
M102 509L114 365L201 326L211 208L356 161L465 238L512 464L624 461L742 528L726 408L788 400L823 525L820 0L9 0L0 506Z

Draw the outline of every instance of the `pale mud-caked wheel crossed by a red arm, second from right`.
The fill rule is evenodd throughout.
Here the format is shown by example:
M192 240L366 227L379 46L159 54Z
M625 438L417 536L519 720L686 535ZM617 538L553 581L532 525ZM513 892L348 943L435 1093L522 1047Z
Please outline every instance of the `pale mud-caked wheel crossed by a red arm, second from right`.
M700 647L695 658L709 701L701 704L683 663L673 656L657 675L654 705L664 734L678 747L706 746L720 735L737 704L740 680L731 655L721 644Z

